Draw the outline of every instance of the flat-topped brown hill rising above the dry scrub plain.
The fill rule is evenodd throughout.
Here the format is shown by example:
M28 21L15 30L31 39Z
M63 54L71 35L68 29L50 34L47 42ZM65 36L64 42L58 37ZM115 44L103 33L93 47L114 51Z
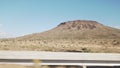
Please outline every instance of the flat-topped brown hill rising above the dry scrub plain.
M114 39L120 38L120 30L104 26L96 21L75 20L59 24L56 28L21 37L22 39Z

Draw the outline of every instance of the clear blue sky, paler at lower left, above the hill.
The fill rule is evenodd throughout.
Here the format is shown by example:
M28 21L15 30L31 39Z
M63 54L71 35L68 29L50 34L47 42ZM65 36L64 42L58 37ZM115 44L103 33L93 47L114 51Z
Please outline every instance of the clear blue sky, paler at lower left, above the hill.
M0 0L0 34L10 37L43 32L71 20L120 28L120 0Z

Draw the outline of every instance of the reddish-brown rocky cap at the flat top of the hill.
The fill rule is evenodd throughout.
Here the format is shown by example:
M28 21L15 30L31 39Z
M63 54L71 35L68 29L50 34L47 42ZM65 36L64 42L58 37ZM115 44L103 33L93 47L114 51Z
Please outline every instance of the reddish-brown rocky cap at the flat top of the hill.
M88 20L68 21L58 25L59 28L65 30L85 30L85 29L91 30L101 26L103 25L96 21L88 21Z

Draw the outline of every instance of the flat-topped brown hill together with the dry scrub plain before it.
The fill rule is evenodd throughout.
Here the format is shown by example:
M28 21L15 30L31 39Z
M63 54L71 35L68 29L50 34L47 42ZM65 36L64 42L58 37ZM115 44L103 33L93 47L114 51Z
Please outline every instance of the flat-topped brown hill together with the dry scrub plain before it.
M0 42L1 50L120 53L120 29L91 20L74 20L42 33Z

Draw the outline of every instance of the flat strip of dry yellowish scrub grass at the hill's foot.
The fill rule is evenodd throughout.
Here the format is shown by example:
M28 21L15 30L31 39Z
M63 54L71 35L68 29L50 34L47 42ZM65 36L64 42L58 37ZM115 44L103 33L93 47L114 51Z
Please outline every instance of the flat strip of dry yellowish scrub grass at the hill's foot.
M7 40L0 42L0 50L120 53L119 39Z

